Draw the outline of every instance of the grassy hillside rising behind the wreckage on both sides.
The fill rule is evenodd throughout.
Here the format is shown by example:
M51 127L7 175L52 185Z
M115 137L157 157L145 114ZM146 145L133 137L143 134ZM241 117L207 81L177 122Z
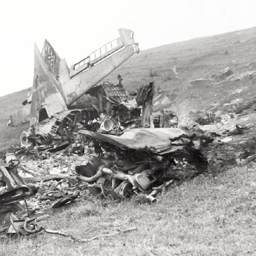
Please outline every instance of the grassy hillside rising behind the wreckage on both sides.
M175 92L174 110L181 116L190 110L208 110L219 102L225 104L237 97L247 99L255 94L254 82L246 77L211 88L197 90L190 87L190 80L209 78L226 67L231 68L235 75L256 69L256 27L142 50L106 79L115 83L120 74L124 87L130 91L155 81L156 87ZM19 142L19 134L27 127L6 127L11 113L21 108L27 92L22 90L0 97L1 150Z

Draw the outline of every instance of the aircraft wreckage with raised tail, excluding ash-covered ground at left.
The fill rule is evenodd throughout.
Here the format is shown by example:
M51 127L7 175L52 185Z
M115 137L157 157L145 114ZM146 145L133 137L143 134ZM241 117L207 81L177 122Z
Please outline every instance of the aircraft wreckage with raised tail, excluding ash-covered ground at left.
M110 199L140 194L155 201L167 186L206 170L208 162L199 146L207 138L177 128L170 96L155 90L153 82L133 96L124 90L120 75L117 85L100 83L139 53L131 30L119 29L119 35L70 68L48 41L41 52L35 46L33 87L23 102L30 109L30 128L21 135L21 149L39 158L43 152L60 150L87 155L87 164L75 168L79 181L100 188ZM19 111L12 115L12 125L26 119ZM8 207L30 194L19 168L0 170L0 206ZM75 198L63 197L55 206Z

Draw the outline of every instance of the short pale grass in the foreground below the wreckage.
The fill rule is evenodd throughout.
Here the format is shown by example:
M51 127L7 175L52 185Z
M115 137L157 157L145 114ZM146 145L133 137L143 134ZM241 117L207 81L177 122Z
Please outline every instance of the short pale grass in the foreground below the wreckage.
M83 197L43 226L77 237L138 230L86 244L50 234L21 237L3 243L0 255L255 255L255 178L255 165L201 175L152 205Z

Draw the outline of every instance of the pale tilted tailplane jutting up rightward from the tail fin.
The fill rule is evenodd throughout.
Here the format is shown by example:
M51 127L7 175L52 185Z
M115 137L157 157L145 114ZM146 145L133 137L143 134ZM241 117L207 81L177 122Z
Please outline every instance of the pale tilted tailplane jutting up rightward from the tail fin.
M75 63L70 68L70 76L65 74L67 68L61 63L61 88L67 106L71 106L93 86L104 79L110 72L139 52L133 39L133 32L124 28L119 29L120 37L92 52L88 57Z

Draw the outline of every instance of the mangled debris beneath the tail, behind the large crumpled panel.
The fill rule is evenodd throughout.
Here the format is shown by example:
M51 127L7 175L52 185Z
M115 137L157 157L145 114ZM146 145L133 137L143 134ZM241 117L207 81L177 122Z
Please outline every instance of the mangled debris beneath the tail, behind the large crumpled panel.
M57 152L72 143L73 150L79 150L74 144L81 128L120 136L131 128L177 127L177 115L170 110L166 92L155 95L154 90L154 83L150 83L142 86L136 97L128 99L121 83L115 86L104 82L88 92L97 97L97 106L59 112L33 124L28 132L22 133L21 146L30 152Z

